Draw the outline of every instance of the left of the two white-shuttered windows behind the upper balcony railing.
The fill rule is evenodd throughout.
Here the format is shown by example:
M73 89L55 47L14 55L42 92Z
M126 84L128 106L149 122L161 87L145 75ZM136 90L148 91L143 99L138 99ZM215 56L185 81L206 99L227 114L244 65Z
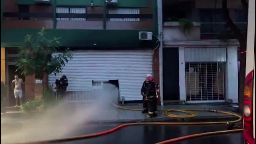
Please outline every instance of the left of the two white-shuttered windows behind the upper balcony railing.
M57 7L56 9L57 13L86 13L85 7L74 7L74 8L68 8L68 7ZM57 18L57 20L86 20L85 18Z

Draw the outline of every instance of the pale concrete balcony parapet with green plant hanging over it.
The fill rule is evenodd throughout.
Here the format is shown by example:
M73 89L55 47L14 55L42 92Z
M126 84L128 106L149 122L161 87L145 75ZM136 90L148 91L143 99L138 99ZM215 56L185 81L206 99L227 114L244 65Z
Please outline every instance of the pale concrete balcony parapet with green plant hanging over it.
M200 40L200 24L193 22L192 28L184 32L179 22L164 22L164 41L196 41Z

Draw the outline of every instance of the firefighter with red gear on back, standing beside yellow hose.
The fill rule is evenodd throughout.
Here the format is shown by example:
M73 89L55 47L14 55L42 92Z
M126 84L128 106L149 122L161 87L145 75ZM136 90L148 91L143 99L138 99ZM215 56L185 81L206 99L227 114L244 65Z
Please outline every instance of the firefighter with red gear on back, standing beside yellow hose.
M156 117L157 116L157 93L156 93L156 84L154 82L153 77L147 78L147 86L146 86L146 100L148 101L148 117Z

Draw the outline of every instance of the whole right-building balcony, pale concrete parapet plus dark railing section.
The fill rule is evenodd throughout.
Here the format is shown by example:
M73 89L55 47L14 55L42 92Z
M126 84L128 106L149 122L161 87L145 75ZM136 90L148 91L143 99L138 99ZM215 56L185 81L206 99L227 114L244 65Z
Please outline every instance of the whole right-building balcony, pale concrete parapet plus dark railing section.
M246 22L235 22L236 26L243 31ZM225 22L193 22L193 27L184 34L179 22L164 22L164 41L196 41L201 39L235 39Z

